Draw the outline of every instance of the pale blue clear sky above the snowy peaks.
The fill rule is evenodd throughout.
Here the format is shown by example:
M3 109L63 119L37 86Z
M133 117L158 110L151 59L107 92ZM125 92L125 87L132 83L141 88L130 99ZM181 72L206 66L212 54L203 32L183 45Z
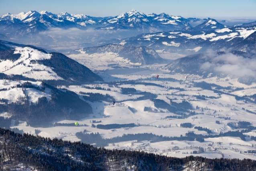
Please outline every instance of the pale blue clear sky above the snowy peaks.
M0 0L0 14L36 10L116 16L130 10L183 17L256 17L256 0Z

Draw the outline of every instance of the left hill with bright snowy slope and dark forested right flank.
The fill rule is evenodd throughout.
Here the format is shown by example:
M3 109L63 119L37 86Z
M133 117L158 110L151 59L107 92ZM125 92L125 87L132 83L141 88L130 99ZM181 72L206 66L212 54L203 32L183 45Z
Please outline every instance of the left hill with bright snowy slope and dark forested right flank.
M102 80L89 68L61 53L47 54L44 50L33 46L0 51L0 72L6 75L19 75L26 80L62 81L62 84L67 81Z

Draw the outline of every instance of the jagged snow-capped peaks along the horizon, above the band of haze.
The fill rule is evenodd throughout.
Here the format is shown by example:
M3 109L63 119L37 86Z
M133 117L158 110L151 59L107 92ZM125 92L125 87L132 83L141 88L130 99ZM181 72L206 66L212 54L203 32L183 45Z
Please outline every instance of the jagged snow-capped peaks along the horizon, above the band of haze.
M29 30L36 26L40 29L51 27L60 28L88 28L97 27L98 29L117 30L140 28L144 30L173 30L181 29L186 26L191 26L188 22L190 20L181 16L171 16L169 14L149 14L131 10L114 17L91 17L84 14L69 14L61 12L53 14L47 11L29 11L21 12L19 14L5 14L0 16L0 24L4 26L7 31L10 28L28 27ZM9 30L10 31L10 30Z

